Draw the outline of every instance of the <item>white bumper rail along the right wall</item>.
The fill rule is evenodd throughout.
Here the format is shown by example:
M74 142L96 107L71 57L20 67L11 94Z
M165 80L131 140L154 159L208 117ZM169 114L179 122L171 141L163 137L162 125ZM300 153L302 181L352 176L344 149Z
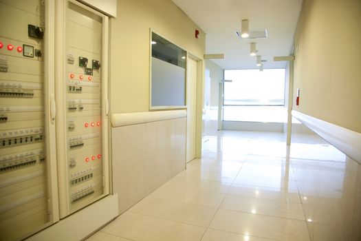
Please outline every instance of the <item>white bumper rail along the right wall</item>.
M361 133L292 110L292 116L361 164Z

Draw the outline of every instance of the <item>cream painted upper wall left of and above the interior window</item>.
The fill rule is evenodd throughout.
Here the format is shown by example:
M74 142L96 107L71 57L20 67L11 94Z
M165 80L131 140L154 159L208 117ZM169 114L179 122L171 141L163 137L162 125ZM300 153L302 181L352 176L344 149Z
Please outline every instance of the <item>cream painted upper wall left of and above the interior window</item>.
M150 28L203 59L204 32L171 0L118 0L118 17L110 21L112 114L149 111Z

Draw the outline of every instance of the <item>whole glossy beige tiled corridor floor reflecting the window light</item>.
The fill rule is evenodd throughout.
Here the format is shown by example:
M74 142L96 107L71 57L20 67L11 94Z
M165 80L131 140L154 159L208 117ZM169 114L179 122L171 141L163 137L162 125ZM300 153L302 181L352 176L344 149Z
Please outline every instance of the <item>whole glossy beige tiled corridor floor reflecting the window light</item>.
M290 154L281 133L206 136L201 158L89 240L360 240L360 165L305 137Z

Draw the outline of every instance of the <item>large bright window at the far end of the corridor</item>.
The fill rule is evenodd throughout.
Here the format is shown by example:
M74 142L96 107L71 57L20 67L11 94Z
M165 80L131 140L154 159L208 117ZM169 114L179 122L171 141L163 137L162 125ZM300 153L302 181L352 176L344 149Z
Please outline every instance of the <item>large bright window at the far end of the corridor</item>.
M286 123L285 70L225 70L223 121Z

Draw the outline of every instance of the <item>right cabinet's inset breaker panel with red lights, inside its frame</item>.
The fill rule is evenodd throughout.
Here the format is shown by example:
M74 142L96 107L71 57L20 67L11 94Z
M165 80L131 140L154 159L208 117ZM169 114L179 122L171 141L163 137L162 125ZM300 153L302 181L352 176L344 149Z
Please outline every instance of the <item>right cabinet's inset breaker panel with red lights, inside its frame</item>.
M70 213L105 193L102 31L99 14L78 3L68 3L64 85Z

